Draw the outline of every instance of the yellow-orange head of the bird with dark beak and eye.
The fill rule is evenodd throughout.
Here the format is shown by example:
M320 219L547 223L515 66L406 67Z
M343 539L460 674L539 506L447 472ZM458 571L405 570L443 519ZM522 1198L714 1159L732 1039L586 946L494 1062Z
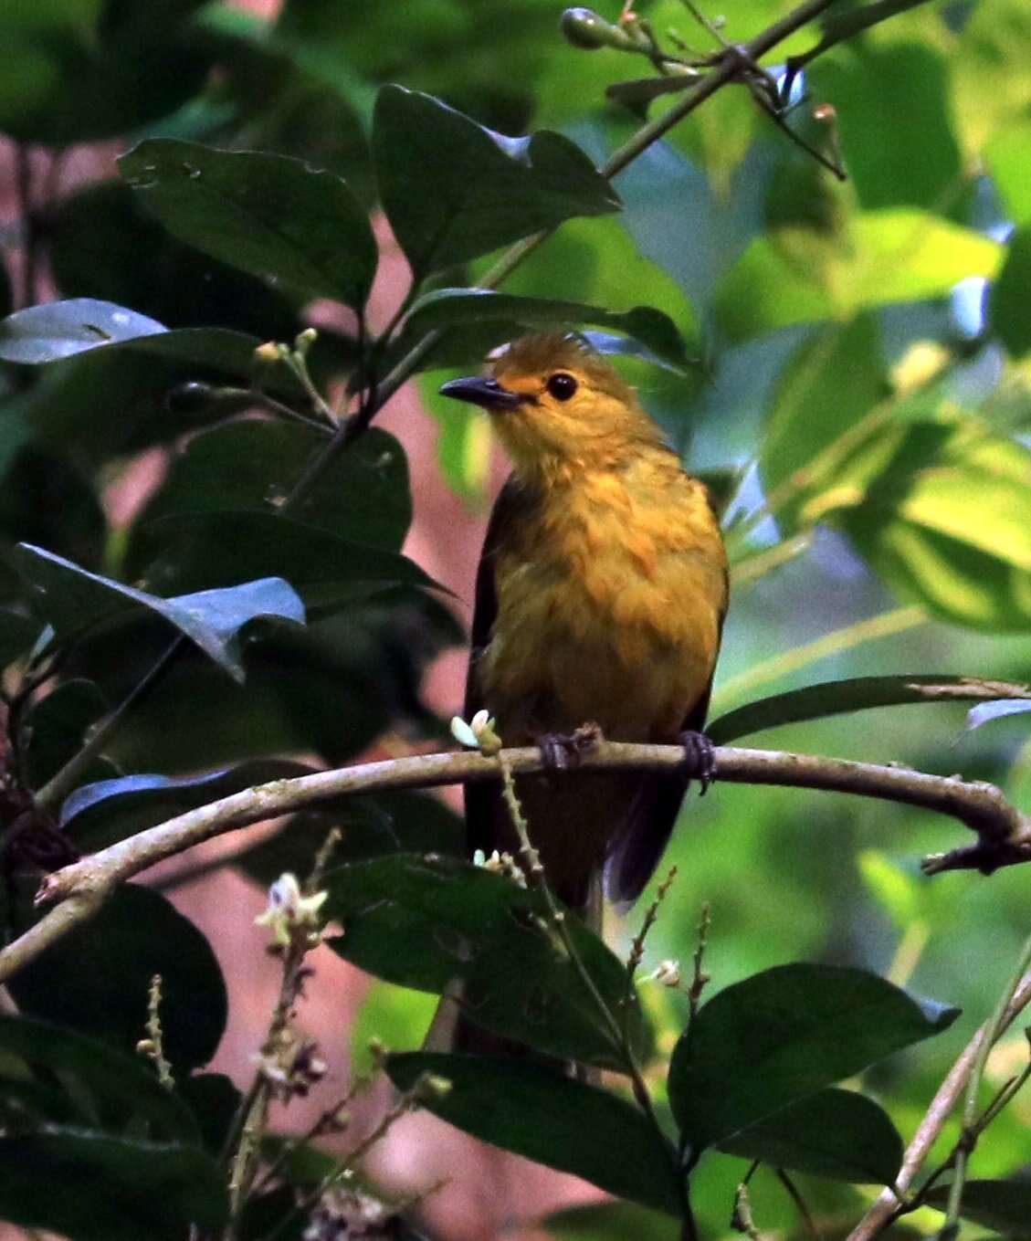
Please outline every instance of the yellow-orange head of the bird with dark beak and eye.
M538 334L509 345L490 375L440 392L479 405L524 477L618 465L661 432L634 390L579 336Z

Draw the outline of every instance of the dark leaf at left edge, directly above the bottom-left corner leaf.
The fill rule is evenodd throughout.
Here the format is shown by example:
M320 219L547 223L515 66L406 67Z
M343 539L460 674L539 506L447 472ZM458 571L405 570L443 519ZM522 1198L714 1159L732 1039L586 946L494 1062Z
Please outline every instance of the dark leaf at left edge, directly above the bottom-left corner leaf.
M125 1055L73 1030L29 1016L0 1015L0 1095L7 1081L24 1081L21 1067L58 1073L83 1121L122 1132L134 1118L155 1137L194 1144L197 1127L189 1108L170 1095L138 1055Z

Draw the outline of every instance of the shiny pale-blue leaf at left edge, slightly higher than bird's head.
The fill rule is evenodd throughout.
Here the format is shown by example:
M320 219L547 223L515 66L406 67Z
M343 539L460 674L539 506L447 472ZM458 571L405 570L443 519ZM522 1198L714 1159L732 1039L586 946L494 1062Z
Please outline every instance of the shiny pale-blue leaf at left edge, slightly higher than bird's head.
M98 302L96 298L47 302L17 310L0 321L0 357L7 362L31 365L53 362L100 345L136 340L166 330L156 319L112 302Z

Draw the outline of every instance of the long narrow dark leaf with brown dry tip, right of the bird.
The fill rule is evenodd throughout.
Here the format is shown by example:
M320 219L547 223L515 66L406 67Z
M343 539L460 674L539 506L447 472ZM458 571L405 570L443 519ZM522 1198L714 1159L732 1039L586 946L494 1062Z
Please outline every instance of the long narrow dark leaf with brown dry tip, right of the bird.
M716 745L726 746L738 737L783 724L824 720L849 711L875 706L902 706L909 702L969 702L996 699L1031 697L1031 688L1010 681L989 681L978 676L855 676L842 681L821 681L787 694L757 699L736 707L706 726Z

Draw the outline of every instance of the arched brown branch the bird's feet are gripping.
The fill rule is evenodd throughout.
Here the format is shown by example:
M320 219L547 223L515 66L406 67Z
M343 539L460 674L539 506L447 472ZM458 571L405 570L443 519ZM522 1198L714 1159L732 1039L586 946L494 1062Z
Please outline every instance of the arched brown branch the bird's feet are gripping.
M988 872L1031 860L1031 817L1010 805L994 784L777 750L720 746L715 758L718 779L727 784L778 784L856 793L949 814L976 833L976 845L928 859L924 869L929 874L954 869ZM545 767L536 746L506 750L504 761L516 776ZM581 757L578 769L672 771L682 762L684 751L679 746L602 741ZM434 788L499 779L500 776L501 764L496 757L417 755L270 781L189 810L48 875L36 896L37 903L66 903L0 952L0 982L96 913L118 884L202 840L359 793Z

